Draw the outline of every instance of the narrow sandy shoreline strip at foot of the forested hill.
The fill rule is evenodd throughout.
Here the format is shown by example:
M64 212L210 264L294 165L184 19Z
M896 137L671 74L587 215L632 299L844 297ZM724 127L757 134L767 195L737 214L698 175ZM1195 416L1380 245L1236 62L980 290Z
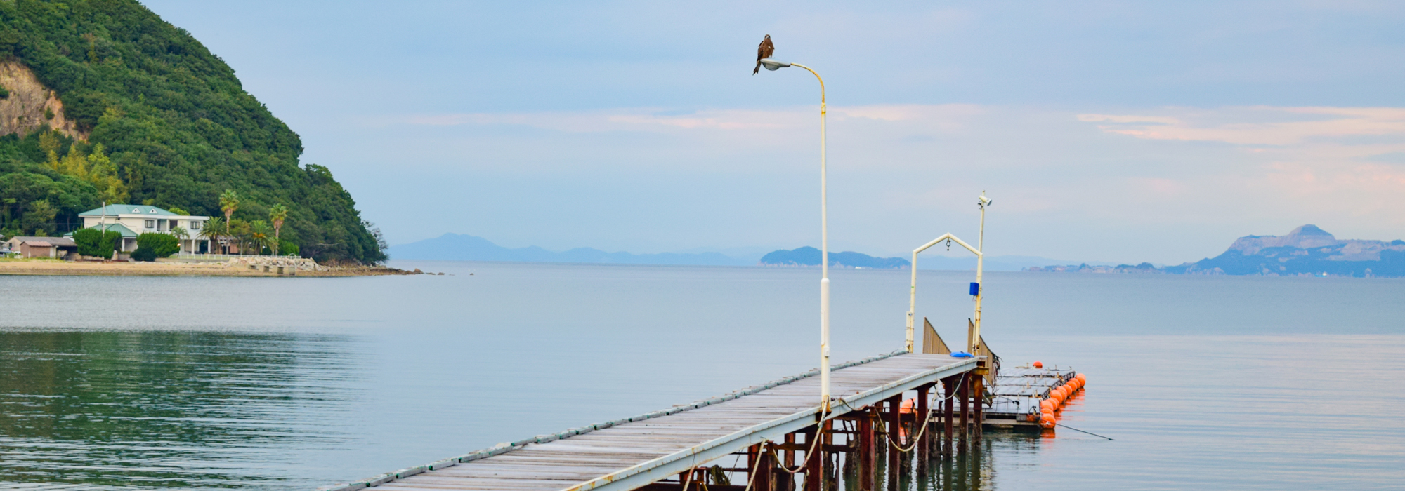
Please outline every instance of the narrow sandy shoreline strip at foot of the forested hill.
M323 267L325 271L298 271L278 275L221 262L97 262L55 260L3 260L0 276L249 276L249 278L332 278L422 275L419 269L405 271L389 267Z

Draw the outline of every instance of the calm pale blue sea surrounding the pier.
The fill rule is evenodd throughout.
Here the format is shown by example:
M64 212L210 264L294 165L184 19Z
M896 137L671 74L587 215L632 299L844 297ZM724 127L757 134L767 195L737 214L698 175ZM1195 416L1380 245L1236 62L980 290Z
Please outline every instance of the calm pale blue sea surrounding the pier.
M447 275L0 276L0 488L311 490L818 362L815 269L396 265ZM920 272L953 344L971 276ZM903 271L835 271L836 362L901 348L906 293ZM1402 300L1399 279L988 274L992 349L1086 373L1064 422L1114 440L996 433L975 487L1398 490Z

